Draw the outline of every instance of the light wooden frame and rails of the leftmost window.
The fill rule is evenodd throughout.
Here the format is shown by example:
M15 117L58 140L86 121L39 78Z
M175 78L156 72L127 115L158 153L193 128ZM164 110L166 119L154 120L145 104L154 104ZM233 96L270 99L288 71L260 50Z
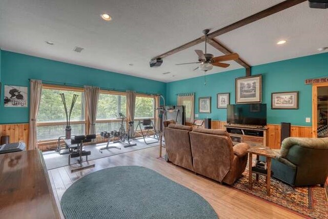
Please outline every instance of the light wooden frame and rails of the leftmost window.
M84 93L84 88L80 87L70 87L70 86L64 86L64 85L51 85L51 84L42 84L42 89L50 89L50 90L65 90L65 91L76 91L76 92L83 92ZM85 133L88 131L88 114L87 114L87 107L85 107L85 119L84 121L71 121L70 124L72 125L81 125L84 124L85 128ZM58 126L58 125L66 125L66 121L63 122L37 122L36 121L36 126L37 127L45 127L45 126ZM65 135L65 132L63 132L63 135ZM59 137L59 136L58 136ZM37 141L38 146L46 144L46 143L53 143L56 142L57 138L53 139L47 139L47 140L40 140Z

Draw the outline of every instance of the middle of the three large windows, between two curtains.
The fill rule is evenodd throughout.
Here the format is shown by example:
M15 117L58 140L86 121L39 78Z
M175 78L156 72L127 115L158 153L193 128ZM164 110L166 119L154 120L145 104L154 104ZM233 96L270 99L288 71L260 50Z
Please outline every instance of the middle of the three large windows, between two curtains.
M126 115L127 97L120 93L100 93L97 109L96 133L119 130L119 113ZM123 123L125 126L126 124Z

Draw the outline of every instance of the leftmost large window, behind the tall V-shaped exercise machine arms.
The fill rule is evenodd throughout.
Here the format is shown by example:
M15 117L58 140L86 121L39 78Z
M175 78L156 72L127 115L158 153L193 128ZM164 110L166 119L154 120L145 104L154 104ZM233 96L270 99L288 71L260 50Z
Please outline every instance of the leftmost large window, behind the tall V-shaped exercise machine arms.
M73 94L78 95L71 114L72 135L85 134L86 110L83 89L70 90L70 88L52 88L45 85L37 115L37 141L55 140L65 135L66 115L59 93L65 94L68 110Z

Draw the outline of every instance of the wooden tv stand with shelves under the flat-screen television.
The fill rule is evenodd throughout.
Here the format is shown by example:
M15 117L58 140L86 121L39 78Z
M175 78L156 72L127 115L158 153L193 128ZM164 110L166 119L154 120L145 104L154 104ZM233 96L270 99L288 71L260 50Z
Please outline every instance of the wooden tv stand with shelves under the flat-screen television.
M268 127L229 124L224 125L226 131L229 132L234 145L238 143L247 143L251 147L268 146Z

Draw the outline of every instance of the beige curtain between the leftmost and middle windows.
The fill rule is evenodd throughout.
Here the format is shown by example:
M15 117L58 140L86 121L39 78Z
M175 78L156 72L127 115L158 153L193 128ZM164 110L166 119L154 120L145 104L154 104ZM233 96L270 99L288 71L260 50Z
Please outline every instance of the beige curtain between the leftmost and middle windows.
M89 118L89 134L96 133L96 118L97 118L97 106L99 99L98 87L84 86L84 97L86 100L86 108Z

